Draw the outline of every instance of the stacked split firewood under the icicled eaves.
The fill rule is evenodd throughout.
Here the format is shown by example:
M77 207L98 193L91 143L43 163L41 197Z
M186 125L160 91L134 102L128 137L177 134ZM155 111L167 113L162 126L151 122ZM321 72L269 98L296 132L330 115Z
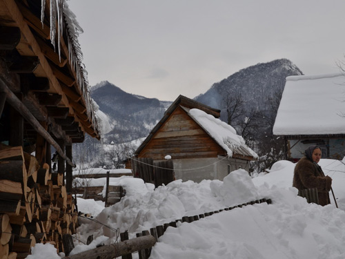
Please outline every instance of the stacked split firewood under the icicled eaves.
M63 175L50 173L21 146L0 146L0 258L26 258L36 243L64 251L78 214ZM70 235L68 235L70 236Z

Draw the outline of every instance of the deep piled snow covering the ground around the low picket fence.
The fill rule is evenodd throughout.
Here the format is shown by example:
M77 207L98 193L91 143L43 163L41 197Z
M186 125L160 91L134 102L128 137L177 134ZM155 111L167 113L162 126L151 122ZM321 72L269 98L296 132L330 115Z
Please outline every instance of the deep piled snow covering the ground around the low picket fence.
M204 180L197 184L176 180L155 191L152 184L123 177L119 181L126 184L125 189L130 189L131 182L135 188L93 219L111 229L84 219L75 237L85 242L93 234L99 242L110 244L119 232L129 231L130 238L134 238L137 232L184 215L270 198L272 204L221 211L192 223L178 223L177 228L168 227L152 247L150 258L345 258L345 165L338 160L321 160L319 164L333 178L339 209L331 193L333 204L325 207L308 204L297 196L297 189L291 187L295 164L287 161L277 162L270 173L253 179L240 169L224 181ZM92 204L79 202L79 210L85 211L83 206ZM77 245L76 251L88 248ZM137 258L138 254L132 256Z

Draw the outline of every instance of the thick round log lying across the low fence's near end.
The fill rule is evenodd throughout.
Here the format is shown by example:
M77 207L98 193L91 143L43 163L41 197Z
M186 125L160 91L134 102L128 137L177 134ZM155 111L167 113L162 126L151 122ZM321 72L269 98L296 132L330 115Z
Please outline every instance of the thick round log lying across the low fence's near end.
M153 236L141 236L117 244L104 245L73 256L66 256L65 259L112 259L117 256L125 256L128 253L147 249L155 245Z

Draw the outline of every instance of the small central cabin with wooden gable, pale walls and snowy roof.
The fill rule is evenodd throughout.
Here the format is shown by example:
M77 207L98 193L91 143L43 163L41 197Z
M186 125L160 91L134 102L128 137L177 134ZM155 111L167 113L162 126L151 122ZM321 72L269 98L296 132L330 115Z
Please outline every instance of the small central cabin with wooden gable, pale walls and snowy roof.
M150 158L155 163L168 155L175 178L184 181L223 180L236 169L248 171L249 161L257 155L219 117L219 110L180 95L137 148L133 160Z

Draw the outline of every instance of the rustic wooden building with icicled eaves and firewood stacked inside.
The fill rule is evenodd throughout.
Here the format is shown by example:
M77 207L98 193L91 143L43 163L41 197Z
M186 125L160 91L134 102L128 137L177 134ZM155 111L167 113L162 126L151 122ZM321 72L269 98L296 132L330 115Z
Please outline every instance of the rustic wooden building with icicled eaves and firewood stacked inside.
M73 19L63 0L0 0L0 258L68 253L77 227L72 144L100 133Z

